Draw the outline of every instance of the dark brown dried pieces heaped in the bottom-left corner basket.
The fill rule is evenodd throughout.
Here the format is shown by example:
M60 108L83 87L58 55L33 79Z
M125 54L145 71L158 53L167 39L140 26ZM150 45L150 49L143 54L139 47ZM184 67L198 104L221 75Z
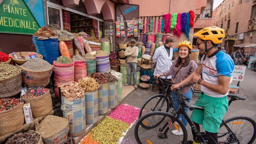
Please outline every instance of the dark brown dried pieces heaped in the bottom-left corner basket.
M30 130L28 132L20 132L10 137L5 144L37 144L40 140L40 134Z

